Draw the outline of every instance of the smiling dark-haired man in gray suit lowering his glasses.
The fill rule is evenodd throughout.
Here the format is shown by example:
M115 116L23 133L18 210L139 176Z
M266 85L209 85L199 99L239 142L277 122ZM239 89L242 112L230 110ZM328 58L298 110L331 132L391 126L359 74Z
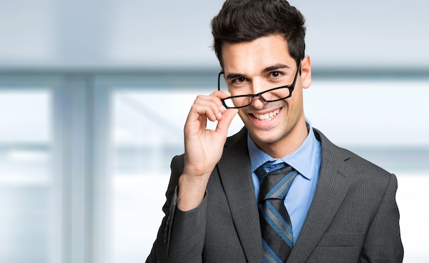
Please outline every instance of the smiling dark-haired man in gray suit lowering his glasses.
M227 0L212 34L228 92L191 107L147 262L402 262L395 175L304 116L302 14L284 0ZM245 127L227 138L237 112ZM285 197L266 194L273 175Z

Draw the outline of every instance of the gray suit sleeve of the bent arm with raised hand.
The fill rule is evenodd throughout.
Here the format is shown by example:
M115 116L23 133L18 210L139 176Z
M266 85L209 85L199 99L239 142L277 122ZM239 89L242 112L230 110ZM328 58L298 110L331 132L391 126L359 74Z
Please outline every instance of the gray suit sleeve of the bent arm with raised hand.
M207 201L204 198L197 208L187 212L177 208L177 184L183 166L183 155L175 156L171 162L167 201L162 207L165 216L146 263L202 261Z

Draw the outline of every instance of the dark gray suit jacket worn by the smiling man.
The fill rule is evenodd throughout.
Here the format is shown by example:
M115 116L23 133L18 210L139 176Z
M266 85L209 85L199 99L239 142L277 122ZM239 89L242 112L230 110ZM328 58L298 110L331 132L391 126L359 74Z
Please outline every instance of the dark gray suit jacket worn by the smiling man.
M315 197L287 262L402 262L395 175L321 141ZM183 155L171 162L165 217L150 262L262 262L262 245L247 151L247 130L228 138L194 210L176 209Z

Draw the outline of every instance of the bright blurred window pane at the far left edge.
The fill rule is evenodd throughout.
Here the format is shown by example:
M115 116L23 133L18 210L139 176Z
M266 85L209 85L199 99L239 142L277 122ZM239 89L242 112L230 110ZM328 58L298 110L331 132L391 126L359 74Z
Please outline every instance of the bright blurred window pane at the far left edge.
M0 87L0 262L50 262L58 249L51 99L47 87Z

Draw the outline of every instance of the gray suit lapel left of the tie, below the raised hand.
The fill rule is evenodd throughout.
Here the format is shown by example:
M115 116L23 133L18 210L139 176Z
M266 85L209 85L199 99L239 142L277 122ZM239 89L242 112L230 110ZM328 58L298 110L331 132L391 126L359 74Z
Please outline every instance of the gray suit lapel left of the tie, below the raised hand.
M225 144L223 158L217 167L247 262L260 262L262 244L246 129L242 129Z

